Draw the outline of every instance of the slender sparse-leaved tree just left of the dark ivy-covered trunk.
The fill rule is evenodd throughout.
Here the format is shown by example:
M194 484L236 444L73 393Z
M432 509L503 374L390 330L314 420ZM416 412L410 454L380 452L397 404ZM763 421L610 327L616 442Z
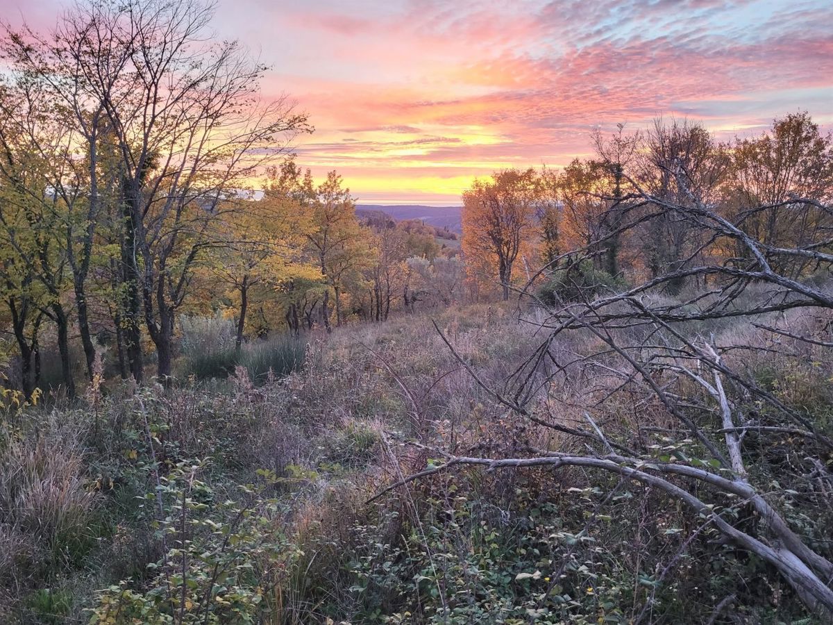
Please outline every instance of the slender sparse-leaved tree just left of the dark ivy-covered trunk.
M44 171L42 182L60 199L65 213L62 229L88 377L92 377L95 348L87 277L94 238L103 221L102 207L116 178L116 163L108 160L112 157L112 128L100 94L116 87L119 68L124 70L130 57L129 47L113 37L111 28L112 11L108 13L105 2L78 5L47 37L27 27L15 32L5 26L2 38L3 56L12 67L16 87L36 98L52 128L71 134L62 153L52 151L51 168ZM92 67L105 64L112 71L90 73ZM52 143L48 138L32 139L36 151L49 152Z

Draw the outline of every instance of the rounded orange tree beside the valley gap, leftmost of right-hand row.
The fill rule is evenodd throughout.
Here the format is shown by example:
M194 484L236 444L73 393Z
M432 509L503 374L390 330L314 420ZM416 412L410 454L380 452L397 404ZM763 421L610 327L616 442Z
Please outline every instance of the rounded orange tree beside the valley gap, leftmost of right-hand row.
M509 299L514 264L534 233L536 178L534 169L506 169L491 180L476 180L463 193L463 251L496 269L504 300Z

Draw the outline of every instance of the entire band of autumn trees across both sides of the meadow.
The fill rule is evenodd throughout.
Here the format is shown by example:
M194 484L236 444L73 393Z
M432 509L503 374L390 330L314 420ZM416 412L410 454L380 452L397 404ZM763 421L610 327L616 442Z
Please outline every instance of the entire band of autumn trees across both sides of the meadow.
M816 205L791 205L824 203L833 187L833 142L806 112L730 143L687 120L596 132L595 156L561 171L476 180L459 249L422 223L357 216L341 176L317 183L297 164L307 115L262 99L267 67L212 37L212 14L199 0L80 2L47 34L3 26L0 321L6 383L26 397L44 342L71 397L74 360L92 378L105 345L123 378L141 383L152 360L169 378L182 313L233 316L239 349L533 284L563 293L671 272L676 294L706 282L686 268L748 256L646 193L696 194L773 249L831 228ZM821 267L773 254L791 277Z

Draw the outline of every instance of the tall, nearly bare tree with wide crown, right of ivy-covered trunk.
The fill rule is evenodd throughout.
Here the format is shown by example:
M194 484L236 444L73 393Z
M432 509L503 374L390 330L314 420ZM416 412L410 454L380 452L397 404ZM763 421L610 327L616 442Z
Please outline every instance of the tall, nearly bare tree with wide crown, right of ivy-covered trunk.
M139 285L158 375L171 373L174 320L209 224L287 136L306 129L285 99L258 100L265 67L237 41L207 39L212 5L197 0L79 7L69 26L104 22L105 51L82 58L122 171L127 282ZM257 155L257 156L256 156ZM129 315L134 316L132 302ZM141 377L141 372L140 377Z

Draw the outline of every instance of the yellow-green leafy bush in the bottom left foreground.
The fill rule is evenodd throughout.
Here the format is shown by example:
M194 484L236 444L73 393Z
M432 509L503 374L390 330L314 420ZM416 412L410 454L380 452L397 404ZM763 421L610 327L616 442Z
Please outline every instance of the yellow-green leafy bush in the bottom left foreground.
M240 487L242 502L223 499L197 479L206 465L177 463L147 493L167 551L145 587L123 580L100 592L91 623L254 623L280 612L280 587L300 552L284 531L285 510L268 498L273 480Z

